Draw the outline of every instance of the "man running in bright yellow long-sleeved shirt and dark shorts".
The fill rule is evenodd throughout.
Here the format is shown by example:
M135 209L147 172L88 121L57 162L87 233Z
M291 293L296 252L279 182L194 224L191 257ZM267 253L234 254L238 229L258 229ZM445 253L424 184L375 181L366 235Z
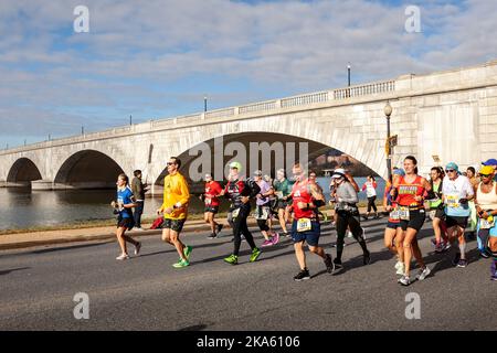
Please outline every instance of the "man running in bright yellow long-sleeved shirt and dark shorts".
M168 175L163 179L163 203L157 210L158 214L163 214L162 242L175 246L180 258L173 264L175 268L190 266L191 246L181 243L179 236L183 228L188 215L188 202L190 191L187 180L179 172L181 161L177 157L171 157L168 162Z

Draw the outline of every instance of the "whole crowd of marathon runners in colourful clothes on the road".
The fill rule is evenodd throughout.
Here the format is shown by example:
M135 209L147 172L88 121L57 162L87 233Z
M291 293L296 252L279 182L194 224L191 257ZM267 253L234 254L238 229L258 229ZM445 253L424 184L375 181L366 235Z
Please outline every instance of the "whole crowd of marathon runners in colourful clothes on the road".
M179 259L172 266L182 268L190 265L192 247L180 240L180 234L188 216L190 191L186 178L179 172L181 161L172 157L167 163L168 175L163 181L163 203L157 210L163 216L162 240L172 245ZM305 165L293 165L292 175L285 170L276 171L276 179L271 180L257 170L252 178L241 176L242 164L230 163L230 173L223 188L211 174L205 175L204 193L200 196L205 204L204 221L210 225L209 238L219 236L223 225L215 221L222 199L230 202L228 224L233 236L233 252L224 261L230 265L239 263L242 242L251 247L250 261L261 256L261 248L278 244L281 236L292 238L299 271L296 281L309 279L305 245L310 253L319 256L328 272L337 274L343 269L342 253L346 234L352 236L362 249L363 265L371 263L364 229L360 224L360 188L350 173L336 169L329 185L329 204L334 206L332 224L336 227L336 257L319 245L322 213L319 208L327 204L322 186L316 181L317 174L307 172ZM396 258L395 274L398 282L409 286L412 282L412 259L417 264L416 280L424 280L431 269L423 260L417 234L425 220L432 220L434 238L432 244L437 254L446 253L453 265L464 268L467 260L467 237L476 237L479 254L490 260L490 279L497 280L497 160L490 159L479 170L469 167L466 171L450 162L433 167L430 178L419 174L417 161L409 156L402 168L394 168L387 181L383 194L383 208L388 213L384 231L384 245ZM362 186L367 191L368 218L371 211L379 217L374 200L377 183L372 175ZM254 202L252 202L254 201ZM255 204L255 210L253 210ZM117 181L117 202L113 207L118 216L117 239L121 249L118 260L129 258L126 243L135 246L139 255L141 244L126 234L133 228L133 208L137 202L129 188L127 175L120 174ZM252 213L253 212L253 213ZM251 214L256 220L264 242L258 247L248 229L247 218ZM279 223L281 233L273 229L273 218ZM466 232L467 231L467 232Z

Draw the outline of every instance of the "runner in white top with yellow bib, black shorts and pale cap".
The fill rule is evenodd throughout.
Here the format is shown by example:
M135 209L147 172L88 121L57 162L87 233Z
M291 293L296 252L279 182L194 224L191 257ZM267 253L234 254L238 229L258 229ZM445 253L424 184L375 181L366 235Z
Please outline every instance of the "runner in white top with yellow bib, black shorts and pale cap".
M464 238L464 229L467 226L467 220L470 214L468 201L474 199L475 192L469 179L459 175L458 171L459 169L454 162L445 167L445 173L447 175L443 181L442 193L445 204L448 242L453 244L457 238L459 243L459 253L456 250L453 265L466 267L466 239Z

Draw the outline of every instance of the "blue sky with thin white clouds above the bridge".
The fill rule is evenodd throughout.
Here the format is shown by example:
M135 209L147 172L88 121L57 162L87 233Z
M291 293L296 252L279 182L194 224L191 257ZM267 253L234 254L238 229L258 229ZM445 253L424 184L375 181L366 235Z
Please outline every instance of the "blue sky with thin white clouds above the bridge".
M352 84L478 65L496 28L494 0L2 0L0 148L199 113L204 96L340 88L348 63Z

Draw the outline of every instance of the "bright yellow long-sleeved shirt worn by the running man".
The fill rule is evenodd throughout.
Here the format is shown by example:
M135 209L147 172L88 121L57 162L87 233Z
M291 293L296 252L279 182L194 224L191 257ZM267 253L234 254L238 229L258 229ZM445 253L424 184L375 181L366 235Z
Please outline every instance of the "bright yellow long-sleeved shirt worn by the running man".
M190 200L190 191L188 190L187 180L179 172L175 175L167 175L163 179L163 203L161 210L172 207L178 202L181 203L179 208L173 208L171 213L163 214L166 220L184 220L188 214L188 201Z

